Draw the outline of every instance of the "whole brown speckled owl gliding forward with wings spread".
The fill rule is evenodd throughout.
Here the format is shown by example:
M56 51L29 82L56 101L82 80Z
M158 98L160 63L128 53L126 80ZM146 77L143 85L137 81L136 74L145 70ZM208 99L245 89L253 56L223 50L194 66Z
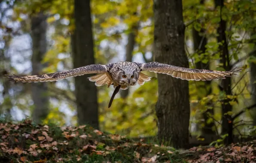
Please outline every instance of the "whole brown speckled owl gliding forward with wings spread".
M97 73L97 75L89 77L89 81L95 82L95 85L98 87L107 85L109 88L110 85L113 85L113 87L116 88L110 99L110 107L119 89L125 90L129 88L129 86L136 85L137 83L139 85L143 85L145 82L150 80L151 77L143 74L142 71L163 73L182 80L205 81L212 79L224 79L225 77L230 77L234 72L241 72L241 69L234 69L231 71L213 71L207 69L190 69L158 62L117 62L107 65L92 64L64 72L55 72L43 75L22 77L17 75L7 76L15 82L52 82L73 76Z

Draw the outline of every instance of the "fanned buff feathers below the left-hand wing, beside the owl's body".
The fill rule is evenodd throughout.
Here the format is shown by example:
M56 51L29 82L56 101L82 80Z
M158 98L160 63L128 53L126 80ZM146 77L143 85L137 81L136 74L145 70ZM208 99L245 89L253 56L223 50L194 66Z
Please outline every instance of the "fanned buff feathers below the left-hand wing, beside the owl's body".
M107 85L108 87L110 87L110 85L113 83L112 80L107 75L107 73L100 73L100 74L91 76L88 79L91 82L95 82L95 85L98 87L102 85Z

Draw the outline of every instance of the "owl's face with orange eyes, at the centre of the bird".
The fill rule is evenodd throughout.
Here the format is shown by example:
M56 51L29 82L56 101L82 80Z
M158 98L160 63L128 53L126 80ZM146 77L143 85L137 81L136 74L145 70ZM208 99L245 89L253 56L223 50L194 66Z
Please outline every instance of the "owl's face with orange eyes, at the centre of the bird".
M139 73L137 73L136 71L133 71L133 72L120 71L118 74L119 85L125 85L125 86L136 85L138 78L139 78Z

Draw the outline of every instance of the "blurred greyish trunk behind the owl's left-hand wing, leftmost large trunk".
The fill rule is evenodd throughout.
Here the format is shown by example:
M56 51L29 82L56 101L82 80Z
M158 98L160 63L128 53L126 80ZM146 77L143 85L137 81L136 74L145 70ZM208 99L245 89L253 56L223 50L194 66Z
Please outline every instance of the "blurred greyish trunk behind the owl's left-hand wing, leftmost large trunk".
M33 42L32 74L37 75L42 73L45 65L42 64L43 57L46 54L46 30L47 21L46 15L39 12L31 18L31 37ZM49 113L49 97L47 94L47 82L31 83L32 99L34 101L34 110L32 118L34 122L41 123Z

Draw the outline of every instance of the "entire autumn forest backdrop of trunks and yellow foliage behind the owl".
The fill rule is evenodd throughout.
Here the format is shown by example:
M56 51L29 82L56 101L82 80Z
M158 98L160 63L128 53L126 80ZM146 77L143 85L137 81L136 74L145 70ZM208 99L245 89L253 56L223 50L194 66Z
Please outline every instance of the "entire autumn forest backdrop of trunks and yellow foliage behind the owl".
M189 133L226 144L233 135L254 136L255 18L255 0L0 0L0 116L158 135L174 147L186 147ZM151 81L121 91L111 108L113 87L96 88L91 75L32 84L4 78L125 60L243 69L207 82L148 72Z

